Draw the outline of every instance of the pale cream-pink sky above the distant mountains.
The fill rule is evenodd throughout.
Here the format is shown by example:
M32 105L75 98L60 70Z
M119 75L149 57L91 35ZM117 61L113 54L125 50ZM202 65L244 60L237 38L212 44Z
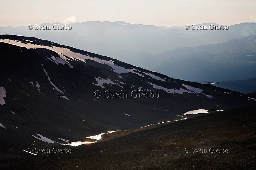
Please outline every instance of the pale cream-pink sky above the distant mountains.
M0 0L0 26L124 21L158 26L256 22L256 0Z

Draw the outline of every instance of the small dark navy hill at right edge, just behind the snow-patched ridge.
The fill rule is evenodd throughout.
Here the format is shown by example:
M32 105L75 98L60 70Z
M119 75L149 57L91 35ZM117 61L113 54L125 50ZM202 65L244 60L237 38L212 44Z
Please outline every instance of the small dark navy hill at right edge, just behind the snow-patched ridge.
M226 88L232 91L239 91L247 94L256 91L256 78L246 80L224 81L224 82L200 82L203 84L211 84L220 88Z

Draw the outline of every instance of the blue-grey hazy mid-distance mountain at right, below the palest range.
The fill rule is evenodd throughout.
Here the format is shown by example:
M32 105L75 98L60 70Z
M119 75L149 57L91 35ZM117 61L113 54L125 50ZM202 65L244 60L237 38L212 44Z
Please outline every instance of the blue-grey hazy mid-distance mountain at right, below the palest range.
M256 77L256 35L224 43L183 47L155 56L159 73L178 79L201 82Z

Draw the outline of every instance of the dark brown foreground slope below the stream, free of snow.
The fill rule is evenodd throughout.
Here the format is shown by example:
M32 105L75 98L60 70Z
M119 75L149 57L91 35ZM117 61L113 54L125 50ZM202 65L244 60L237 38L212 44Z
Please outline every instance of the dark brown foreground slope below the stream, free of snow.
M81 145L72 148L71 154L31 156L3 164L2 168L255 169L255 109L250 106L203 115L107 142ZM205 150L196 153L193 148Z

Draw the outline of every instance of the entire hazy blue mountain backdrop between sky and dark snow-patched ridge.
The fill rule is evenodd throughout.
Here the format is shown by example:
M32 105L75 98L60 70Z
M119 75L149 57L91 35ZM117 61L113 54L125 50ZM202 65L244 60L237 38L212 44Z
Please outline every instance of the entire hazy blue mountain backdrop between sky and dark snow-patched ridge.
M198 25L210 24L215 23ZM45 25L52 28L64 24L40 26ZM254 22L230 25L228 30L186 30L122 21L76 22L67 26L72 29L29 30L27 26L7 26L0 27L0 34L50 40L189 81L220 82L256 76L256 42L255 37L250 37L256 34Z

